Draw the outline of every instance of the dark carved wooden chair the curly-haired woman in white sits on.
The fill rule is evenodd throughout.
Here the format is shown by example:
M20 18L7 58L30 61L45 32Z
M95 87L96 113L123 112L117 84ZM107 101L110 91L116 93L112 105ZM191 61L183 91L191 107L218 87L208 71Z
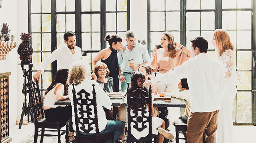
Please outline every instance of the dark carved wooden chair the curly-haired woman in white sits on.
M75 112L75 125L76 125L76 143L101 143L102 141L109 140L109 139L113 143L114 132L109 132L109 133L99 135L96 92L95 92L95 88L94 88L95 85L92 84L92 86L93 86L93 90L92 90L93 98L92 99L89 98L89 96L91 94L88 93L87 91L85 91L84 89L80 90L77 93L77 95L78 95L78 98L77 98L74 84L72 84L72 86L73 86L72 93L73 93L73 104L74 104L74 112ZM82 94L85 95L85 98L82 98ZM79 105L79 107L77 107L77 105ZM92 109L89 108L90 106L93 106L94 111L92 111ZM92 115L91 112L94 112L94 118L91 118L91 116L89 116L89 115ZM78 113L79 113L80 117L78 117ZM84 116L84 113L86 113L87 116ZM88 124L88 129L80 128L81 129L81 131L80 131L79 125L84 127L85 123ZM93 124L95 125L96 135L86 136L86 135L81 134L81 132L89 133L91 130L93 130L93 128L92 128Z

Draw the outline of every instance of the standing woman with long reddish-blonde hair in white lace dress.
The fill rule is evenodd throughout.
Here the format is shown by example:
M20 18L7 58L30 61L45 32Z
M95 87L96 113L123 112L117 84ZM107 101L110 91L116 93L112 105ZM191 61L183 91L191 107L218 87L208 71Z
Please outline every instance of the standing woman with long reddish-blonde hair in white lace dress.
M215 58L224 67L225 87L221 93L221 108L218 117L219 143L232 143L233 119L232 101L236 95L236 51L230 41L229 34L223 29L214 30L213 41Z

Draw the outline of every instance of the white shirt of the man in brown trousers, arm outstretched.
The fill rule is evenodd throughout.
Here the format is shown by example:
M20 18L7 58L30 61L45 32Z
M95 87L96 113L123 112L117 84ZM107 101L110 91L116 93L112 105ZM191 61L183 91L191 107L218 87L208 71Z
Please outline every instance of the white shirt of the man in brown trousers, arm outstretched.
M151 79L152 84L187 78L191 95L190 112L213 112L220 109L224 85L223 67L206 53L199 53L165 74Z

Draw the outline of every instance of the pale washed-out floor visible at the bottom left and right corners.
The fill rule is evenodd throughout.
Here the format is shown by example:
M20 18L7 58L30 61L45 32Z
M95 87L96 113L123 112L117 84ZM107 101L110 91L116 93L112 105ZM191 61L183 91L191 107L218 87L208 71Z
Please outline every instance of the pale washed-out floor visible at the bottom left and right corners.
M234 131L233 143L255 143L256 126L236 125L236 126L233 126L233 131ZM23 139L27 138L27 136L33 135L33 134L34 134L33 123L30 123L29 125L22 125L22 129L19 129L19 125L15 125L12 128L10 128L10 136L12 137L12 143L19 143ZM29 142L26 142L26 143L29 143ZM180 143L183 143L183 142L180 142Z

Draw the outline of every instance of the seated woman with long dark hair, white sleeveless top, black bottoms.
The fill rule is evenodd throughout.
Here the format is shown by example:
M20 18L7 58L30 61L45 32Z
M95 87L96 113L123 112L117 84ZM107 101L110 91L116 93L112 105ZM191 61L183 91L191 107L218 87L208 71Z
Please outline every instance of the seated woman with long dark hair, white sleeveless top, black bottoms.
M68 98L68 69L59 69L56 72L56 76L53 78L52 83L45 91L45 100L43 103L45 118L49 122L54 121L68 121L71 118L72 107L60 107L54 105L56 101L65 100ZM72 122L69 122L69 141L75 140L73 137L74 130L72 128Z

